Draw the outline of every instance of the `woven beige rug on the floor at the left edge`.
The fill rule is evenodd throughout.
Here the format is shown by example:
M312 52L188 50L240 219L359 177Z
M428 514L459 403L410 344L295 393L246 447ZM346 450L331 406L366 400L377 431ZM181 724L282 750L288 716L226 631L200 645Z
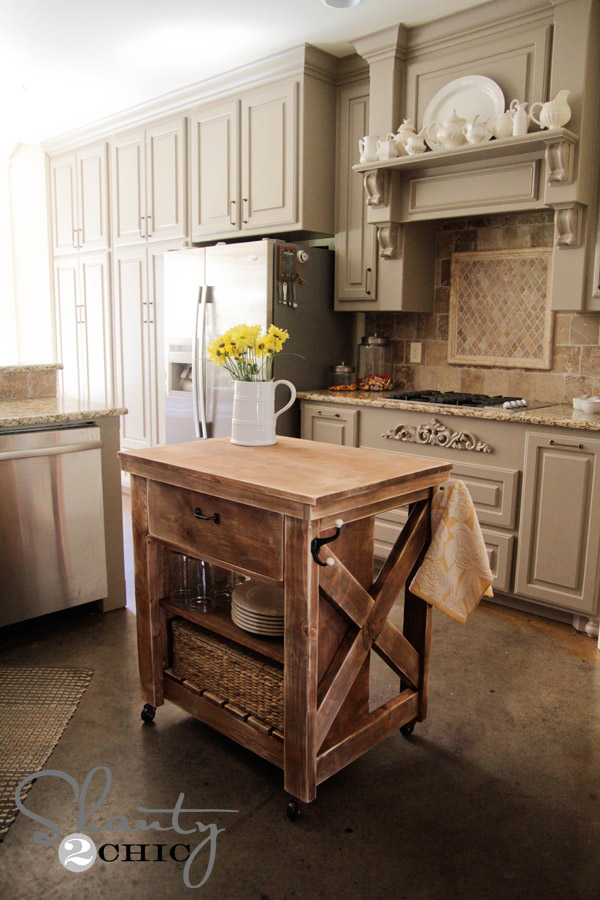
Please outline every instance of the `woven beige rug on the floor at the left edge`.
M17 816L17 785L44 768L92 674L91 669L0 666L0 841ZM30 787L31 782L21 799Z

